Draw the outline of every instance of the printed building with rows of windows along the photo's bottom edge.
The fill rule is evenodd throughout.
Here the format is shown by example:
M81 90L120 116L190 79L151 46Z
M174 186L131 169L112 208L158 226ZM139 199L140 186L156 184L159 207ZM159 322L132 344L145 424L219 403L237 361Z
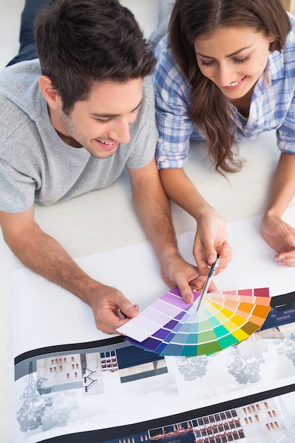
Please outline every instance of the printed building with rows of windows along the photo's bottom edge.
M284 436L273 398L104 443L272 443Z

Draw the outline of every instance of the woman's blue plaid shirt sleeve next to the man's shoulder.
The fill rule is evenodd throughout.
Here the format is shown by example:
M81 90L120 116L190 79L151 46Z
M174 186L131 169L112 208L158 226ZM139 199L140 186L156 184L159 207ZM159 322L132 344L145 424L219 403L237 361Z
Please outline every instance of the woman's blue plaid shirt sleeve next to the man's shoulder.
M190 120L190 84L175 65L165 45L158 50L158 64L153 80L159 132L157 165L159 169L182 168L187 162L193 131Z

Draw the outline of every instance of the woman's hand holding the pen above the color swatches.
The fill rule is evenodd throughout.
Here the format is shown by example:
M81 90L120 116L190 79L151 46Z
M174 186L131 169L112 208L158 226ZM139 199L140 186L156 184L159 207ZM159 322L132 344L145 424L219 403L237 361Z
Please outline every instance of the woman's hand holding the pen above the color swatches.
M215 262L217 253L220 262L215 275L231 261L232 250L227 241L226 224L213 208L198 219L193 253L201 275L208 274L208 267Z

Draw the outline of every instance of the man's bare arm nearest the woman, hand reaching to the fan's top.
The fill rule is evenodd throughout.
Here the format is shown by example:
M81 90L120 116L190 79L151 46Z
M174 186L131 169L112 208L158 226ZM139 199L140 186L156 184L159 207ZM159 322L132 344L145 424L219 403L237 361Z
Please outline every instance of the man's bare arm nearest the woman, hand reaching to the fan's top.
M153 159L144 168L129 168L128 172L134 205L158 258L161 275L170 287L178 285L183 299L191 302L191 286L202 289L206 277L200 276L197 267L185 262L178 251L170 204L161 185L156 162ZM212 284L210 289L214 288Z

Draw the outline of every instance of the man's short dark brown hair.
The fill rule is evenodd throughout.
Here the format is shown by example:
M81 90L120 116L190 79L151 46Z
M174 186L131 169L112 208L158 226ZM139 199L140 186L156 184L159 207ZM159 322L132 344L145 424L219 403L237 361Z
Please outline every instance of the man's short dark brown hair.
M35 23L42 74L69 114L93 81L143 78L156 60L134 15L118 0L53 0Z

